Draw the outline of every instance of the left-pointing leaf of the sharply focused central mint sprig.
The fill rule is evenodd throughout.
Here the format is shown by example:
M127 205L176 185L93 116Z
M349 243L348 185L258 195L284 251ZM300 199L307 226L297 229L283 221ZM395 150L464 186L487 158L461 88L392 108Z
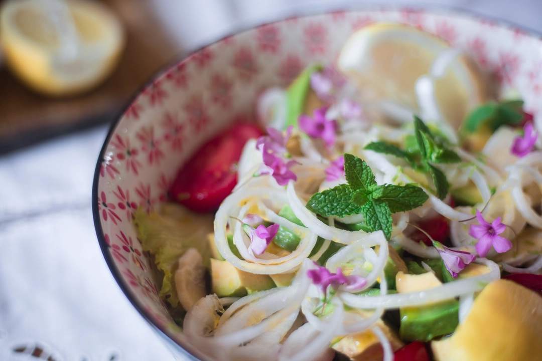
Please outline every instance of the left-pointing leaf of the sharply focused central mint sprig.
M354 191L347 184L341 184L324 192L314 193L307 202L307 209L323 216L344 217L362 213L360 206L350 202Z

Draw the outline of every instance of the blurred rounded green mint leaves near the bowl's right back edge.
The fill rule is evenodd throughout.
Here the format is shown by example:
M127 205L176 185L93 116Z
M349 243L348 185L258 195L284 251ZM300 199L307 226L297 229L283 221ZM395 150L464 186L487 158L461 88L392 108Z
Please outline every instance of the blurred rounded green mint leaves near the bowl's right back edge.
M522 100L482 104L467 115L463 129L474 133L482 124L487 124L493 131L503 125L518 124L523 119L522 107Z

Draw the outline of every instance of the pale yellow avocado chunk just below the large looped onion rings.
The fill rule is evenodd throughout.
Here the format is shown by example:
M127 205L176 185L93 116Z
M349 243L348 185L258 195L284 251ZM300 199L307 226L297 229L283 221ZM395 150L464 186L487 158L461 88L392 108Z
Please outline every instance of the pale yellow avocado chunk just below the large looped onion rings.
M238 270L228 261L211 258L212 292L218 297L243 297L276 287L267 274Z

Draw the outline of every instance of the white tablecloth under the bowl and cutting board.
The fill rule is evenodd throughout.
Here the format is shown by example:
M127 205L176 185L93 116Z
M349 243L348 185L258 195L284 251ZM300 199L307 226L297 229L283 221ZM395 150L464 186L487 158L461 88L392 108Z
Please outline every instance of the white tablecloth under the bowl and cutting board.
M152 1L184 49L288 14L345 4ZM540 0L425 4L453 4L542 32ZM100 127L0 157L0 360L33 359L30 353L51 361L173 359L120 291L96 241L91 188L105 134Z

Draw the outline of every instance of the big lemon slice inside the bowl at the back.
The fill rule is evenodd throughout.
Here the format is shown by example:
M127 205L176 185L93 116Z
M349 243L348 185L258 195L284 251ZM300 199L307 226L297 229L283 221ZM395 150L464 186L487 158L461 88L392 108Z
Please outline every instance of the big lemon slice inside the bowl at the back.
M364 103L376 103L381 113L404 121L412 119L412 112L420 114L418 80L442 73L434 76L434 98L443 119L457 129L472 108L486 101L487 91L474 62L450 49L423 30L377 23L354 32L337 67L362 90Z

